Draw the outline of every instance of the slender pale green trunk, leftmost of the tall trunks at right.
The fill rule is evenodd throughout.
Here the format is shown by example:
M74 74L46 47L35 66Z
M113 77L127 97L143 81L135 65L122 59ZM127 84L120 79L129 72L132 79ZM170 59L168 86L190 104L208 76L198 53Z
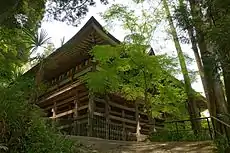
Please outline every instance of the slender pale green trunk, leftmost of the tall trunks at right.
M168 3L167 3L166 0L163 0L163 5L164 5L164 8L165 8L165 12L166 12L167 19L168 19L168 22L169 22L169 26L170 26L170 29L171 29L171 34L172 34L174 44L175 44L175 47L176 47L176 50L177 50L181 70L182 70L184 81L185 81L185 91L186 91L187 96L188 96L187 107L188 107L188 112L189 112L191 123L192 123L192 128L194 130L194 133L197 133L197 131L200 129L200 124L199 124L198 121L195 121L195 120L192 120L192 119L198 118L199 117L199 112L197 110L197 106L196 106L196 103L194 101L194 93L193 93L193 90L192 90L192 87L191 87L191 81L190 81L190 78L189 78L189 75L188 75L188 70L187 70L187 67L186 67L185 58L184 58L184 55L183 55L183 52L182 52L182 49L181 49L181 46L180 46L180 43L179 43L176 28L173 25L173 20L172 20L170 10L169 10L169 7L168 7Z

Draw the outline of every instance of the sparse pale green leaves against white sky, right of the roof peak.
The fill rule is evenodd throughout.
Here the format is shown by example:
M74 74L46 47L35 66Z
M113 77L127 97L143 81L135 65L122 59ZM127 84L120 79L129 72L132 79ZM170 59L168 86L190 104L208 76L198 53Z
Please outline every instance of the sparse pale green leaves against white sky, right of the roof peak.
M149 45L155 29L162 20L163 12L161 9L152 11L142 7L139 10L137 13L137 10L128 6L113 4L102 17L109 25L121 23L121 26L129 32L125 37L126 42Z

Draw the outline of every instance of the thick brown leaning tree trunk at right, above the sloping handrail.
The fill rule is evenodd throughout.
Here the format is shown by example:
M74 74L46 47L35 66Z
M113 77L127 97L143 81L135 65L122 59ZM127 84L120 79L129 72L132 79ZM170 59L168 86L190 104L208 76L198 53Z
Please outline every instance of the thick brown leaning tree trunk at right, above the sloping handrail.
M195 0L189 0L189 3L194 20L194 27L197 33L197 42L201 53L201 59L203 61L204 78L207 82L209 112L210 115L218 117L220 113L226 112L227 110L223 88L217 70L216 54L213 51L212 45L205 40L205 30L202 27L205 23L202 20L202 12L199 3ZM218 123L214 122L214 126L218 132L221 132L221 127Z

